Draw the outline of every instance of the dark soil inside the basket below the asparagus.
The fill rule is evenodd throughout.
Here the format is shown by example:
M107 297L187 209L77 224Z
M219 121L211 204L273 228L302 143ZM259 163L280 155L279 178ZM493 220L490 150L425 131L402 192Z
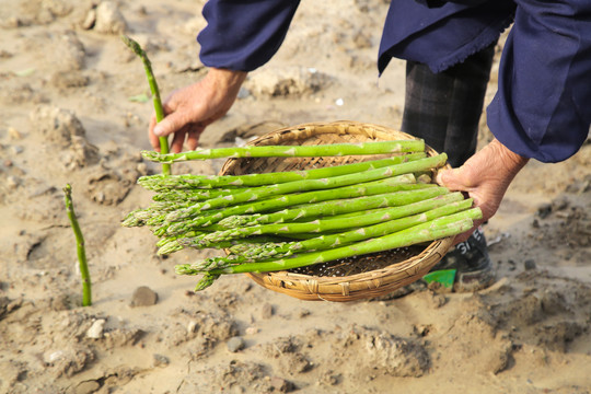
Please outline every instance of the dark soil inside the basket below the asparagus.
M382 269L393 264L405 262L417 256L425 245L414 245L362 256L341 258L333 262L314 264L306 267L290 269L290 273L317 277L345 277Z

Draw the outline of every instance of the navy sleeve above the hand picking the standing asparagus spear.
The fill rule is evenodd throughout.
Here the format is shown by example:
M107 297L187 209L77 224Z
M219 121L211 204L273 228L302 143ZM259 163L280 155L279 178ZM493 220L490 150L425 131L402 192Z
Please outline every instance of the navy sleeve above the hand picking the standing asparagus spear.
M209 0L197 36L208 67L252 71L281 46L299 0Z

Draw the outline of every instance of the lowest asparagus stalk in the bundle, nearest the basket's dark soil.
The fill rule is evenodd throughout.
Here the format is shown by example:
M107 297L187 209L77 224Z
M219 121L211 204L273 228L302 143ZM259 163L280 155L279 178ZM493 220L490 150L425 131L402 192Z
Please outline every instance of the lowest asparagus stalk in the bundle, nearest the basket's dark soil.
M212 281L222 274L269 273L276 270L286 270L457 235L472 229L473 220L480 217L482 212L479 208L473 208L443 218L438 218L392 234L370 239L347 246L303 253L289 258L280 258L260 263L245 263L209 270L207 271L205 278L197 285L196 290L201 290L207 286L210 286ZM204 274L204 271L199 270L199 268L195 269L192 264L176 265L175 271L179 275Z

